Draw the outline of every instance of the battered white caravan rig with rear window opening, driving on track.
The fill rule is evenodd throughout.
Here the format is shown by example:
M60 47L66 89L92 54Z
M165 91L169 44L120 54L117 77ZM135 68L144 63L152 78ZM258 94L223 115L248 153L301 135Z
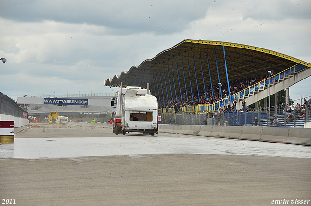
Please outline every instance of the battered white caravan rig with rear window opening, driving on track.
M121 122L121 125L120 125ZM142 132L154 136L158 132L157 99L141 87L121 88L118 91L114 133Z

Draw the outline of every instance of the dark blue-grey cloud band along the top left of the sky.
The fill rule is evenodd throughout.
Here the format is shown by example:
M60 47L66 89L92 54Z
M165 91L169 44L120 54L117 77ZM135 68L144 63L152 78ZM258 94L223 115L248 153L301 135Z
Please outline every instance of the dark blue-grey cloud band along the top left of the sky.
M94 24L111 28L119 35L148 31L160 34L180 32L183 25L204 18L210 4L205 0L186 4L179 0L19 0L2 1L0 16L21 22Z

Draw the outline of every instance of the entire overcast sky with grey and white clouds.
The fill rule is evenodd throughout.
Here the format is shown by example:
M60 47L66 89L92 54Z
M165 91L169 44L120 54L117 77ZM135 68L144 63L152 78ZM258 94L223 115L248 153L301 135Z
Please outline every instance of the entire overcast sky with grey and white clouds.
M105 79L184 39L311 63L310 9L311 0L0 0L0 91L15 100L112 92ZM310 88L311 77L290 98L311 96Z

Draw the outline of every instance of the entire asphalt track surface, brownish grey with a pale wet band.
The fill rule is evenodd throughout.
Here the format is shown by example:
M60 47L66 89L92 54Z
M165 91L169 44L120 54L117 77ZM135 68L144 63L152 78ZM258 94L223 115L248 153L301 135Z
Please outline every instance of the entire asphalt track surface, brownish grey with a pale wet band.
M249 206L311 199L311 147L123 136L74 125L35 124L15 133L14 144L0 145L0 197L16 205Z

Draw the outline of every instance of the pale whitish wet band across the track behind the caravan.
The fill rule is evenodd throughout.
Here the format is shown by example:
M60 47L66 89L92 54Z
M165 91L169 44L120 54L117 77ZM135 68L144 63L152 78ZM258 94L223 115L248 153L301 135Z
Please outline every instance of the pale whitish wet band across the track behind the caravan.
M223 154L311 158L311 147L160 133L111 137L15 138L0 158L72 158L154 154Z

